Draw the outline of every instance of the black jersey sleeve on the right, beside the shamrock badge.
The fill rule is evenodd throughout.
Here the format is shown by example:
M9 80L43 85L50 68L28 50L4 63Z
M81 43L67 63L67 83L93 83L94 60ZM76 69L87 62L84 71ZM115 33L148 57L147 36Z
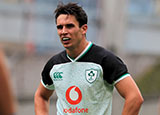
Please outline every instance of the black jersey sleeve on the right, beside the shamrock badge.
M124 62L111 52L103 58L102 67L104 80L109 84L114 84L122 76L128 74L128 69Z

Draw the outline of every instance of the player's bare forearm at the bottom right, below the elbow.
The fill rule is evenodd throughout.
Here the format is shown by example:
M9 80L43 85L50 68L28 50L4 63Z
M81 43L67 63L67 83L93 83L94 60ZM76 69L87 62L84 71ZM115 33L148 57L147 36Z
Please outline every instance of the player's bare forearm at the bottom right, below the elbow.
M138 115L143 99L126 99L122 115Z

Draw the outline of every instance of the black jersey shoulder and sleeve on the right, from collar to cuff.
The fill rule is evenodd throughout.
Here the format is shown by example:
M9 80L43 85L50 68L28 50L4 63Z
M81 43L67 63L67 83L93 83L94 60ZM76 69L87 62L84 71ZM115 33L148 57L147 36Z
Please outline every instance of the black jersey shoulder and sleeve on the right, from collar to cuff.
M127 66L120 57L100 46L94 45L93 48L97 52L98 58L101 58L101 66L104 71L103 77L109 84L114 83L128 73Z

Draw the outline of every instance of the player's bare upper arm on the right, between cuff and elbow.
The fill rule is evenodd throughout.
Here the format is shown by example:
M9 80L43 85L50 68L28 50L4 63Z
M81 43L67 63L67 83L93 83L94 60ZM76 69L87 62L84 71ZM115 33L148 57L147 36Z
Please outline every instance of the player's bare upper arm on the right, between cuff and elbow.
M115 84L117 91L124 98L142 97L136 83L131 76L128 76Z

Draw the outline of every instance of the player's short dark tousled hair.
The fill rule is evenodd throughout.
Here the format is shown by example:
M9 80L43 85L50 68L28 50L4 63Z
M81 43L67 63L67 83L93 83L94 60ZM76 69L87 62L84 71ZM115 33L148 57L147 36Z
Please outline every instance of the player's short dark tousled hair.
M79 22L79 27L88 22L88 16L81 6L77 5L78 3L69 2L68 4L60 3L55 10L55 21L61 14L73 15L76 20Z

